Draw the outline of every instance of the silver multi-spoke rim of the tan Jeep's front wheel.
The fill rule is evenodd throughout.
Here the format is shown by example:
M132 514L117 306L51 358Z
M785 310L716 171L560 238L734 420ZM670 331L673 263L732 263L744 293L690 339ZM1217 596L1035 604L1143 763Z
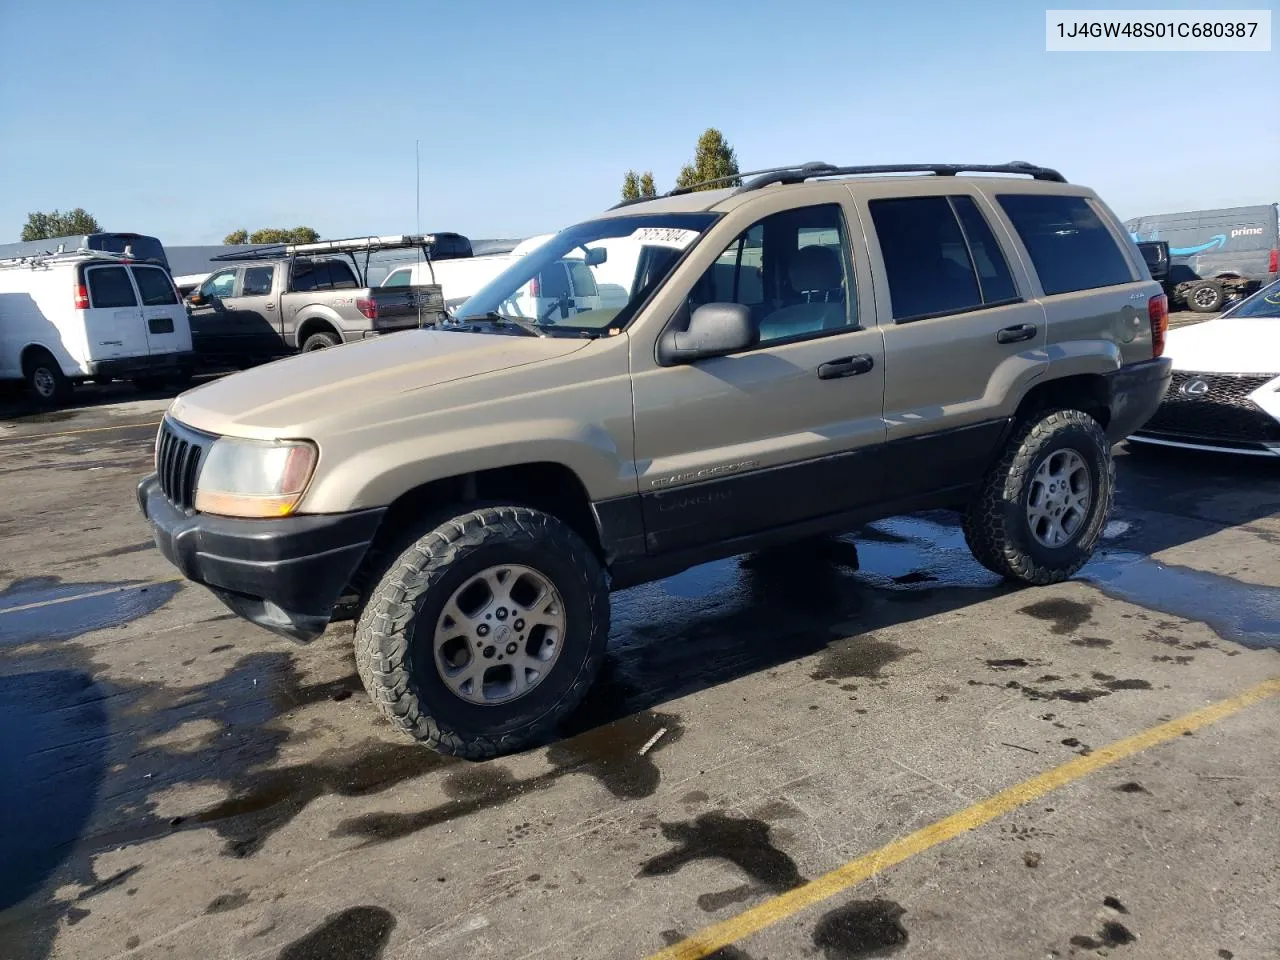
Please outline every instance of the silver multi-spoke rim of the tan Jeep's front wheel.
M532 567L489 567L453 591L435 625L435 669L467 703L524 696L550 673L564 643L564 603Z

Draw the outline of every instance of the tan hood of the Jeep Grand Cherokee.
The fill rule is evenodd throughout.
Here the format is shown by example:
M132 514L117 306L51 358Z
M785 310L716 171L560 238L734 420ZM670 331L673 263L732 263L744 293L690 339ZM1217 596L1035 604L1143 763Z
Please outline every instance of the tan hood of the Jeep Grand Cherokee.
M454 380L582 349L590 340L404 330L300 353L187 390L169 413L197 430L305 436L311 424Z

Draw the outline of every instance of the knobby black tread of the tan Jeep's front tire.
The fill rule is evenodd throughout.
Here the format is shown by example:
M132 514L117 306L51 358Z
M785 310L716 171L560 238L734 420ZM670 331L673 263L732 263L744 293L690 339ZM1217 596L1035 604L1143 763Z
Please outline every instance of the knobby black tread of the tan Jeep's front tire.
M536 539L572 558L590 598L586 612L590 628L608 634L609 594L604 571L591 549L566 524L541 511L513 504L477 507L444 518L390 564L370 594L355 634L356 667L374 704L392 726L442 754L479 760L541 740L581 703L603 659L602 643L600 653L582 662L568 692L554 707L532 723L500 737L461 736L442 727L424 710L424 704L410 689L406 630L415 605L460 554L485 541L508 538Z

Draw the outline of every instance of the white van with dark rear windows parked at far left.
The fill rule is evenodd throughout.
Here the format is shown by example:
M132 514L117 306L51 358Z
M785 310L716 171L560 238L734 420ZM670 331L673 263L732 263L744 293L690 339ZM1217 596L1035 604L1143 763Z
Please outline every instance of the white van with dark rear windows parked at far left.
M152 389L193 367L187 310L164 268L88 250L0 261L0 380L26 380L56 404L79 381Z

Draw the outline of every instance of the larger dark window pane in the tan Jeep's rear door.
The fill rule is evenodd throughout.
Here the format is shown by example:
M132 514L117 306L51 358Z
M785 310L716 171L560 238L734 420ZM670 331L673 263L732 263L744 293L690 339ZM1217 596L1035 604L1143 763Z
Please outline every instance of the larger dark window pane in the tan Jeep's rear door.
M895 320L982 306L964 233L946 197L873 200L869 207Z

